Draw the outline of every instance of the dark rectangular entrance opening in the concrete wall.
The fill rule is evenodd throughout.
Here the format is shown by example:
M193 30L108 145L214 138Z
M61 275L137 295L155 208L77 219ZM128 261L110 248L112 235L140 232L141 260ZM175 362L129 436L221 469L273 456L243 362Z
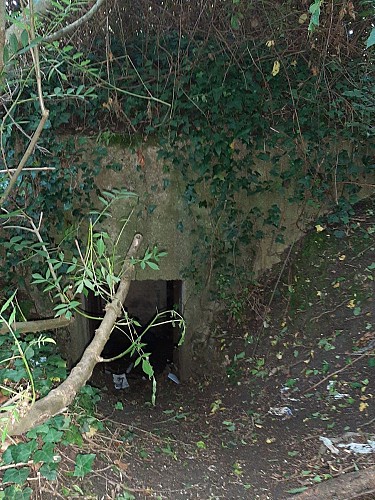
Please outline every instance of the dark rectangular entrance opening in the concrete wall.
M124 305L129 318L135 318L141 325L141 327L132 327L133 333L135 333L135 336L142 334L158 313L168 310L175 310L180 314L182 313L182 281L132 281ZM87 306L90 315L96 317L103 316L105 304L101 297L92 295L89 297ZM167 321L169 318L170 316L168 315L163 316L158 320L158 323ZM90 320L91 336L94 335L98 324L98 321ZM174 371L178 370L178 353L175 346L178 344L179 339L180 329L178 322L152 327L143 334L142 342L146 344L144 352L151 354L149 359L155 373L163 372L167 364L172 363ZM129 328L127 326L115 328L103 350L102 356L104 358L113 358L127 349L130 343ZM132 376L137 376L136 369L129 369L134 364L134 361L134 358L131 359L129 356L124 356L119 360L106 364L106 368L112 373L127 372L131 378ZM132 372L131 374L130 371Z

